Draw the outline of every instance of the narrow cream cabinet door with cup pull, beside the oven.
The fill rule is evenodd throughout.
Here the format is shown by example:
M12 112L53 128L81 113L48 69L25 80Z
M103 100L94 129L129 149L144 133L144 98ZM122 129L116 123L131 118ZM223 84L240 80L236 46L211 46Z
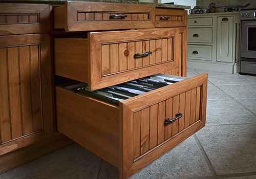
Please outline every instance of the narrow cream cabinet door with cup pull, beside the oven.
M217 18L217 61L232 62L233 17Z

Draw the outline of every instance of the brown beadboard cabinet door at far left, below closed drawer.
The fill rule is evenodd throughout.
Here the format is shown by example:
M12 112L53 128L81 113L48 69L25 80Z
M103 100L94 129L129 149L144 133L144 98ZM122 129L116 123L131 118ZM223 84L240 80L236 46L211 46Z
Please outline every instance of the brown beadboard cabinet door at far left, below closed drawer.
M50 38L0 37L0 155L53 135Z

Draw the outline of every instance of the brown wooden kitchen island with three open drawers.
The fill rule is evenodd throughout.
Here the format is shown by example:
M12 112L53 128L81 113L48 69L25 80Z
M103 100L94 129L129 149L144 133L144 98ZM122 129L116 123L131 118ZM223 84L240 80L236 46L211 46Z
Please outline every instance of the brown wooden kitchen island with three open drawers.
M181 78L189 7L0 2L0 172L75 141L127 178L205 125L207 74ZM159 73L182 81L118 104L66 87Z

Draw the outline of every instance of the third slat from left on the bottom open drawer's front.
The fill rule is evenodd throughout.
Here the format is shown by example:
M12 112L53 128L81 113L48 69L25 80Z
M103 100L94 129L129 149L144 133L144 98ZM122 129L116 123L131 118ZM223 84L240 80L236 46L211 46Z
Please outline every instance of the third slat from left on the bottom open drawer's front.
M150 107L150 149L157 146L158 104Z

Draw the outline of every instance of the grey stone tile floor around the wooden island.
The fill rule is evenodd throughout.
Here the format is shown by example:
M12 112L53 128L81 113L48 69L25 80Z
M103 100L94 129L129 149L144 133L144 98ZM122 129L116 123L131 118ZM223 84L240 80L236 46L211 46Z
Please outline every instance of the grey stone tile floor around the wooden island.
M135 173L138 178L256 178L256 76L208 73L206 126ZM72 144L0 174L1 179L115 179L118 169Z

